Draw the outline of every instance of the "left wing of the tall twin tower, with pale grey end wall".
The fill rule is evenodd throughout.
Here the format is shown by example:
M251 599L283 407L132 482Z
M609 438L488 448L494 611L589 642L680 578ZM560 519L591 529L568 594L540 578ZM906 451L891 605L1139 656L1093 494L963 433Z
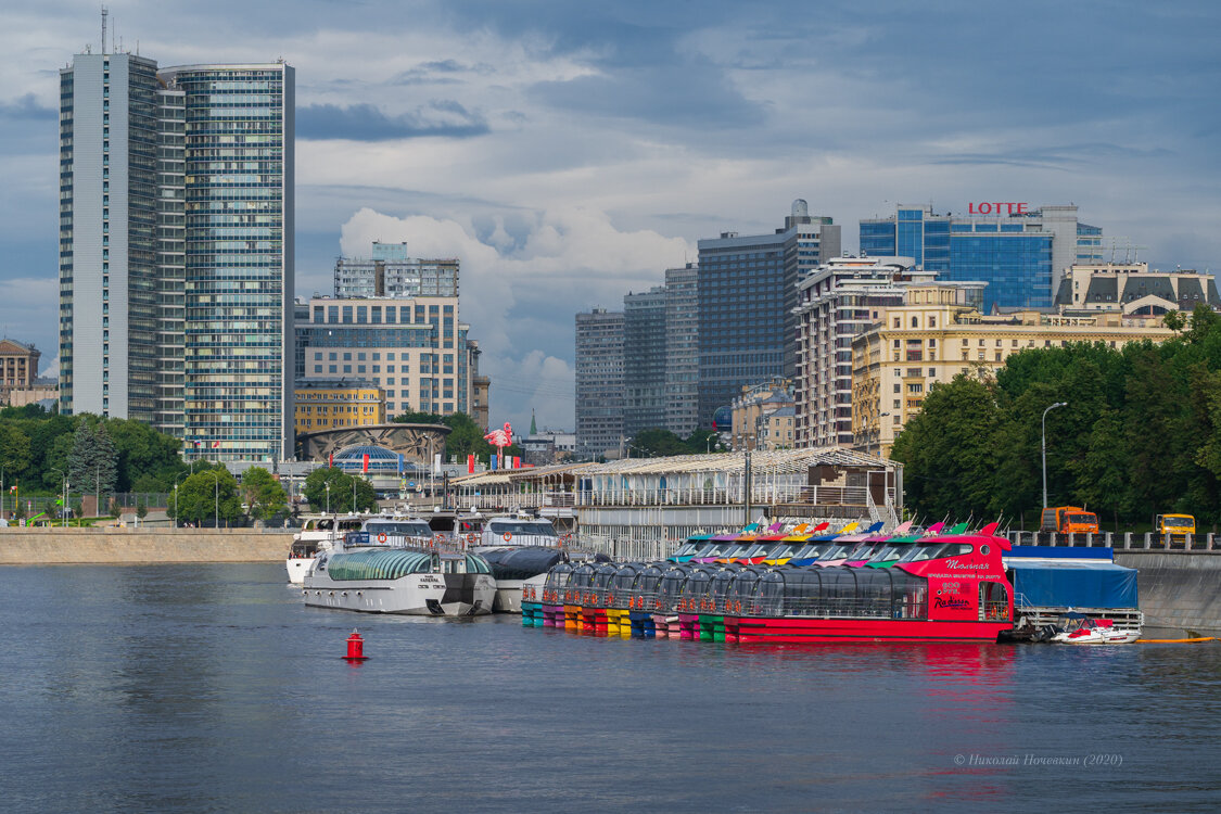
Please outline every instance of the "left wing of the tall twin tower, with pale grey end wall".
M60 71L60 410L153 421L156 62Z

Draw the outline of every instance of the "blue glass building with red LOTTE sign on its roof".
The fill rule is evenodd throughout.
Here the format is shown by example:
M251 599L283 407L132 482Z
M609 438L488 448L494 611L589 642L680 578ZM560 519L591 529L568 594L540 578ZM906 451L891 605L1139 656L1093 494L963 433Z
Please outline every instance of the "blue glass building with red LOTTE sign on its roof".
M937 215L900 205L891 217L861 221L861 254L910 256L941 281L982 281L984 310L1051 308L1060 276L1073 264L1101 262L1103 229L1077 207L971 204L969 214Z

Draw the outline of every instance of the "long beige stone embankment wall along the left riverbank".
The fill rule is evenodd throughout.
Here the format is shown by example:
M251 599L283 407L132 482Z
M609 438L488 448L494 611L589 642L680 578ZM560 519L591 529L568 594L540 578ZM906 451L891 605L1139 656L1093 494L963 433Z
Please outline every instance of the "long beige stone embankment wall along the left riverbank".
M292 542L259 528L0 528L0 565L275 563Z

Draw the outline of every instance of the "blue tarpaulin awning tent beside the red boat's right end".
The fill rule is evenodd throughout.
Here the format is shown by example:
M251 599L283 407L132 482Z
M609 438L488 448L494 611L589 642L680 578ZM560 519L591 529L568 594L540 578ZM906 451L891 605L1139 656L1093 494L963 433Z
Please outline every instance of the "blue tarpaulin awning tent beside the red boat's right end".
M1023 563L1011 559L1013 593L1023 607L1139 608L1137 570L1105 561Z

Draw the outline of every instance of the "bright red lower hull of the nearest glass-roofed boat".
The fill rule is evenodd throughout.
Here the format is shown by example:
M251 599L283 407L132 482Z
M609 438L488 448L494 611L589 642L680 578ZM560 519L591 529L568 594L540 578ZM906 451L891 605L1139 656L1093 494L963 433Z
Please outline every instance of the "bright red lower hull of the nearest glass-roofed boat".
M739 642L995 642L1012 622L891 619L731 619L725 638Z

